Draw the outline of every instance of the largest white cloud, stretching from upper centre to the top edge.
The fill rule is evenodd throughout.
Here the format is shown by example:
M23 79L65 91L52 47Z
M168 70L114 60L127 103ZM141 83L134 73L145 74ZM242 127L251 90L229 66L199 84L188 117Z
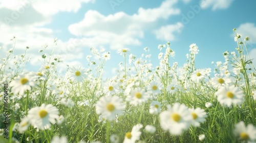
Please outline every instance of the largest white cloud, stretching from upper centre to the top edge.
M89 10L83 20L69 26L69 31L81 38L85 45L100 46L110 44L111 49L120 49L127 45L140 45L144 31L152 30L159 19L180 14L173 8L178 1L164 1L160 7L153 9L139 8L138 13L128 15L117 12L104 16L97 11Z

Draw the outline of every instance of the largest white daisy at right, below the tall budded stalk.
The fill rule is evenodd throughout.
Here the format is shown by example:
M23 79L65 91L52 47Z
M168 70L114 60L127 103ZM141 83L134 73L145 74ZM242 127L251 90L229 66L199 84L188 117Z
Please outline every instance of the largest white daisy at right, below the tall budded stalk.
M215 95L218 97L218 101L227 107L230 107L231 104L240 105L244 101L243 91L234 85L222 86L215 92Z

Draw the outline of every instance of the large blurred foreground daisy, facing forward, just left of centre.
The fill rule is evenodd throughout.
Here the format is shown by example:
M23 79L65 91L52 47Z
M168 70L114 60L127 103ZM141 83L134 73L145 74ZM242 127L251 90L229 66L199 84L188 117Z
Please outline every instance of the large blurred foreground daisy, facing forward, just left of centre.
M123 113L123 109L125 108L125 104L122 103L122 99L117 96L113 97L101 97L99 101L96 103L96 113L102 114L102 117L112 121L116 119L116 115L120 115Z

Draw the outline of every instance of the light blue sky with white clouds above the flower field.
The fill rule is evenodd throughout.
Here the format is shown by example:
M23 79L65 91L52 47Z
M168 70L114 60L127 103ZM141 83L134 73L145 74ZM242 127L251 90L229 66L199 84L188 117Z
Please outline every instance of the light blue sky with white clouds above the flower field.
M256 58L256 1L4 1L0 0L0 46L8 50L16 37L16 53L29 46L31 70L39 69L41 45L52 46L58 38L56 55L70 66L87 67L90 47L111 52L106 74L123 61L117 49L129 48L140 56L148 47L151 62L157 66L159 44L170 42L179 66L186 62L189 45L196 43L197 68L211 67L211 61L223 61L222 53L235 51L233 28L249 36L248 49ZM74 49L69 50L70 47ZM1 58L6 54L1 53ZM256 61L255 61L256 62ZM32 65L32 66L31 66ZM33 68L32 68L33 67Z

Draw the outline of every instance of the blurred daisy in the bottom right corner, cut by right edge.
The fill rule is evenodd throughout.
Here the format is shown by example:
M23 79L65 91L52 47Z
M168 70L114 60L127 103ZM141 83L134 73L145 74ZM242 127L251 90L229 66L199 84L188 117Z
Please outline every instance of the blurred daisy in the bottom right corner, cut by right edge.
M241 121L234 126L234 135L236 135L241 141L255 142L256 141L256 128L249 124L247 127L244 122Z

